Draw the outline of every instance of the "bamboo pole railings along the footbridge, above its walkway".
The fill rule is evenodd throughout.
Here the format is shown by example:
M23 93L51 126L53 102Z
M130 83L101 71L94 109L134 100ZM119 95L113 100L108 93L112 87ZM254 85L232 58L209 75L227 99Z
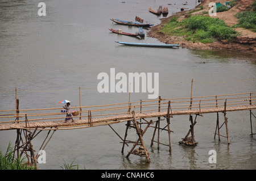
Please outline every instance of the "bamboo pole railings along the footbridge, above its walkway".
M170 104L170 105L168 105ZM79 106L72 107L73 110L79 110L78 116L73 116L75 120L88 120L88 124L92 126L95 119L115 116L118 119L120 116L129 115L131 111L137 113L154 113L167 112L168 107L171 108L171 113L175 111L182 111L185 114L189 110L204 110L212 112L214 108L234 107L234 111L239 110L241 106L256 106L256 93L241 93L241 94L227 94L227 95L212 95L212 96L197 96L190 98L173 98L173 99L159 99L155 100L140 100L137 102L116 103L98 106ZM66 113L60 112L63 108L42 108L42 109L27 109L27 110L0 110L0 130L5 130L3 124L13 123L38 123L46 121L64 121ZM186 111L187 110L187 111ZM152 114L151 114L152 117ZM154 116L153 116L154 117ZM157 115L155 117L158 117ZM18 119L17 119L18 118ZM106 119L108 120L108 119ZM104 121L102 121L103 123ZM105 121L106 122L106 121ZM110 123L110 122L109 122ZM108 124L109 124L108 123ZM94 125L97 125L93 123ZM106 123L104 123L106 124ZM111 123L110 123L111 124ZM85 125L84 123L79 126ZM64 127L64 125L61 125ZM76 124L76 127L78 125ZM72 125L66 125L72 127Z

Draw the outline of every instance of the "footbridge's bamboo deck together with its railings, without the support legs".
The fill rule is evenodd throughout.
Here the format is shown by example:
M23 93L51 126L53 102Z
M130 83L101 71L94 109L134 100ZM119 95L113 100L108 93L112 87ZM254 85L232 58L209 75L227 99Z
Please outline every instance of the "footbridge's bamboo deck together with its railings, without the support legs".
M99 125L115 124L123 121L133 120L133 115L130 110L134 109L137 119L146 119L150 117L166 117L167 104L170 102L170 115L202 115L204 113L214 112L229 112L229 111L244 111L255 110L256 93L242 93L230 95L215 95L215 96L199 96L192 98L175 98L175 99L159 99L144 100L132 103L109 104L102 106L85 106L76 107L79 109L80 116L73 116L73 123L68 121L64 123L65 113L42 113L48 110L60 110L61 108L47 108L34 110L6 110L0 111L0 119L9 119L0 122L0 131L10 129L77 129L95 127ZM226 107L225 107L226 104ZM113 107L114 106L114 107ZM82 111L82 109L86 110ZM153 110L152 110L153 108ZM120 112L119 110L129 110L128 112ZM143 111L142 111L143 110ZM7 112L14 113L7 113ZM107 113L107 112L116 113ZM119 111L119 112L117 112ZM3 113L4 112L4 113ZM27 112L27 113L21 113ZM34 113L38 112L38 113ZM97 114L100 112L100 114ZM92 115L93 113L93 115ZM82 115L86 114L86 115ZM58 116L59 117L56 117ZM40 117L39 119L28 119L28 117ZM42 118L45 116L54 116ZM18 117L18 119L17 119ZM24 120L19 120L20 117L26 117ZM85 117L85 119L83 119ZM15 119L10 121L10 119ZM61 119L61 120L60 120ZM48 121L51 120L51 121Z

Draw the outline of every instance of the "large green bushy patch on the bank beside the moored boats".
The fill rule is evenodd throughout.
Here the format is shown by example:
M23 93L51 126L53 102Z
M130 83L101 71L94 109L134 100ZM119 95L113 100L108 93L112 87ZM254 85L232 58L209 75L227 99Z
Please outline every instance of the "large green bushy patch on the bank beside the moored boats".
M183 36L188 41L211 43L218 39L232 39L237 36L233 28L228 27L224 20L209 16L191 16L177 22L174 17L160 30L171 36Z

